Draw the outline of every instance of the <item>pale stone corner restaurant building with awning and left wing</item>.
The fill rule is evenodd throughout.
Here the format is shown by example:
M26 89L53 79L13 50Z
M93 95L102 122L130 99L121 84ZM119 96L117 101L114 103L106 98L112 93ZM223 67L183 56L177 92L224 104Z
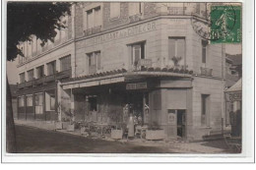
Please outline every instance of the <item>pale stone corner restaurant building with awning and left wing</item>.
M193 28L206 3L78 3L54 42L23 42L18 119L111 124L129 114L167 139L222 129L225 57ZM113 116L114 115L114 116Z

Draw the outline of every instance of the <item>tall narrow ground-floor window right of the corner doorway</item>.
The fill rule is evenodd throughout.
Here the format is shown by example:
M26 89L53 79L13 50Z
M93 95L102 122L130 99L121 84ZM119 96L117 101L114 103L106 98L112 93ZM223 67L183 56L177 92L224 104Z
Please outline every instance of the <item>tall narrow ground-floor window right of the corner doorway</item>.
M201 95L201 125L209 126L209 94Z

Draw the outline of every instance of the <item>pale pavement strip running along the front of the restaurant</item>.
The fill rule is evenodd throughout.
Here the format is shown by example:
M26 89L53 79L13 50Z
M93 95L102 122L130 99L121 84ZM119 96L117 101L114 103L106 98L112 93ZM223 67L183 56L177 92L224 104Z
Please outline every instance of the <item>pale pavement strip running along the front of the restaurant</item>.
M154 147L154 148L163 148L163 150L159 150L159 152L170 152L170 153L232 153L232 150L228 149L228 146L224 142L224 140L218 141L208 141L208 142L178 142L178 141L146 141L141 139L134 140L119 140L114 141L110 138L101 139L99 137L85 137L80 134L79 130L74 132L68 132L67 130L55 130L54 122L46 122L46 121L29 121L29 120L15 120L15 124L18 127L30 127L33 129L44 130L48 132L55 132L58 134L66 134L73 135L79 138L91 139L91 140L99 140L102 142L116 142L116 143L125 143L133 146L142 147ZM95 147L99 147L99 145L94 145ZM133 148L133 147L131 147ZM133 150L133 149L132 149ZM146 149L147 150L147 149ZM154 150L154 149L153 149ZM95 151L97 152L97 151ZM111 152L111 151L110 151ZM125 152L125 151L124 151ZM136 152L136 150L133 150Z

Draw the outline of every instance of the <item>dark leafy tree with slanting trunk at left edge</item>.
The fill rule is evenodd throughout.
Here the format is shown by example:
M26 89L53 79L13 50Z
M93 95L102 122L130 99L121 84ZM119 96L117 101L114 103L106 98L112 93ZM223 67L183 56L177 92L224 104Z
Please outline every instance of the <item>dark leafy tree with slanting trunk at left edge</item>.
M7 60L24 56L18 48L20 42L31 41L32 35L41 40L43 46L54 41L56 28L65 28L60 18L70 15L69 2L8 2L7 3ZM6 150L16 152L15 127L10 86L7 79Z

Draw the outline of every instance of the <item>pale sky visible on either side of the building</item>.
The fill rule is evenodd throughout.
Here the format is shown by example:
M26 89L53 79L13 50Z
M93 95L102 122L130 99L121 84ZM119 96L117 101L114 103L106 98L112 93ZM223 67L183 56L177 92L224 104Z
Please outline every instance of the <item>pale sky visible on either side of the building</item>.
M241 44L226 44L225 45L225 53L227 54L241 54L242 47ZM18 77L18 70L17 70L17 64L18 64L18 59L14 62L7 62L6 63L6 71L7 71L7 77L9 84L17 84L19 82L19 77Z

